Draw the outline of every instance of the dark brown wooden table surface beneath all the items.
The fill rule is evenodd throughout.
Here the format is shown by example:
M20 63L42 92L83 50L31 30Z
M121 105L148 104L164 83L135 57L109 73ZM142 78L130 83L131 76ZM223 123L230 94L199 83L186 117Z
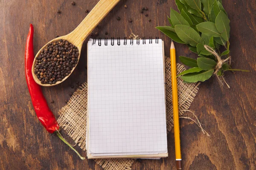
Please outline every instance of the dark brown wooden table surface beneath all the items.
M34 51L37 52L56 35L68 34L76 28L86 17L85 10L90 11L99 0L75 0L75 6L71 1L0 0L1 170L102 170L93 160L80 160L58 137L40 125L26 86L24 47L29 23L35 27ZM256 170L256 1L223 0L223 3L231 21L233 68L252 72L225 74L230 89L225 86L221 89L215 77L201 83L190 109L196 112L211 137L203 135L194 123L180 120L184 170ZM148 7L144 14L139 12L142 7ZM131 32L141 37L159 36L169 56L171 40L155 27L168 25L170 7L177 10L175 0L121 0L93 33L98 33L96 37L109 38L129 36ZM61 14L56 12L58 9ZM130 18L132 23L128 22ZM196 57L186 45L175 45L177 56ZM84 45L73 74L60 85L42 88L55 116L76 90L76 86L70 86L87 80L86 57ZM137 160L132 169L175 169L172 132L168 135L168 144L168 158ZM76 149L85 156L79 147Z

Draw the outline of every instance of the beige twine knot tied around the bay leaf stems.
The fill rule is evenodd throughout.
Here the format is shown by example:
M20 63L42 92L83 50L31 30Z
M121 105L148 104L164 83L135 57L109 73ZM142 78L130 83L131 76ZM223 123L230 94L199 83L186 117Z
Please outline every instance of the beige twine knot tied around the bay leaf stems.
M222 65L224 65L226 62L231 62L231 57L227 57L226 59L221 59L221 57L218 55L218 53L216 53L216 51L214 49L212 49L210 46L208 45L204 45L204 48L211 53L212 55L214 55L216 57L216 59L218 60L217 65L215 66L215 71L213 74L215 74L215 76L218 79L218 82L223 85L224 83L227 85L228 88L230 88L230 86L227 84L226 80L224 79L223 76L218 76L218 71L220 71L220 69L222 68ZM224 83L223 83L224 82Z

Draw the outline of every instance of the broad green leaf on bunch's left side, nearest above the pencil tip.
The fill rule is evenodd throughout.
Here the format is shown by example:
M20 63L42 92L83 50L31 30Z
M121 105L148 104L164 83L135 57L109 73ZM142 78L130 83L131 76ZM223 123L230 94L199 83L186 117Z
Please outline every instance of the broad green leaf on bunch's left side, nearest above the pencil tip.
M175 32L183 42L196 46L198 43L204 44L204 40L200 35L191 27L185 25L176 25Z

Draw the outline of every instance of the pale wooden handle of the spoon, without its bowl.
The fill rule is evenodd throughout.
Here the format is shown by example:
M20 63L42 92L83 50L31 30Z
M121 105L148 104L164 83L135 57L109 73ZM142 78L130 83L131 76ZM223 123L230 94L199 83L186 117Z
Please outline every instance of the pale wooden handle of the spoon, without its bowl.
M86 37L120 0L100 0L84 20L68 36L71 42L82 45Z

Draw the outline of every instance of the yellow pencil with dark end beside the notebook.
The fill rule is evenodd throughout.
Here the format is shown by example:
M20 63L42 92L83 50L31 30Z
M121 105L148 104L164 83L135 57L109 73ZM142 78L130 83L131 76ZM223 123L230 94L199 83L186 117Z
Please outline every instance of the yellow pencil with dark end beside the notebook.
M173 122L174 122L174 139L175 139L175 156L176 168L181 170L181 151L180 151L180 123L178 110L178 90L177 90L177 71L176 71L176 52L172 42L170 48L171 54L171 71L172 71L172 105L173 105Z

